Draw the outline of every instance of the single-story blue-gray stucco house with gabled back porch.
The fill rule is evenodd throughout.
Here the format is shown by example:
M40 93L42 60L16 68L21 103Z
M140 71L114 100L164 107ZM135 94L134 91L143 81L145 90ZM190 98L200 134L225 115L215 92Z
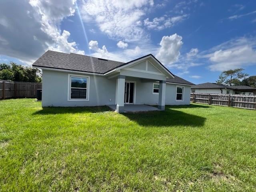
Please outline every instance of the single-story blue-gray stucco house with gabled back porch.
M127 63L48 50L33 64L42 69L42 106L190 104L192 84L174 76L152 54Z

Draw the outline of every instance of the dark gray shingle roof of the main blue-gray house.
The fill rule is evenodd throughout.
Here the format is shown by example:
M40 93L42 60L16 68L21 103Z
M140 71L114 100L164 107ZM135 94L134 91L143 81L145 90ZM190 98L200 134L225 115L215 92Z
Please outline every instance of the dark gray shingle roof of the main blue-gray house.
M118 66L122 66L130 62L124 63L113 60L100 59L92 56L74 53L67 54L48 50L40 58L38 58L38 60L36 60L32 66L104 74L114 68L117 68ZM166 79L166 82L194 85L193 83L178 76L174 76L173 79Z

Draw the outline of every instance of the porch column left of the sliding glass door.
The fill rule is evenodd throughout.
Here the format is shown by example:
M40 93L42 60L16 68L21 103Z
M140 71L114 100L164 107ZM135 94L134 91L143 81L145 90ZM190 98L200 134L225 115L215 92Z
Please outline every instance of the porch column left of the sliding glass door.
M116 112L124 112L124 84L125 76L119 75L117 77L117 95L116 95Z

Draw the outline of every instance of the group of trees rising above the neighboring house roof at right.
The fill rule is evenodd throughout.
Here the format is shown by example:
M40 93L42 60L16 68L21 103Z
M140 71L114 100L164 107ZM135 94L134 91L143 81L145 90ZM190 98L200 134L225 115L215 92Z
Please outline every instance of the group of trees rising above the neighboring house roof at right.
M249 76L243 72L243 68L237 68L234 70L227 70L219 75L216 83L225 85L246 85L250 87L256 87L256 76Z

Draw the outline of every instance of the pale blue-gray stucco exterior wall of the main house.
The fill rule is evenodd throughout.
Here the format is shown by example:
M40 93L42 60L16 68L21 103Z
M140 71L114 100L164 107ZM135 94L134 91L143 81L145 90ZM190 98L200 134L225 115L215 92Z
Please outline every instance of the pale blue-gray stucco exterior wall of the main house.
M68 74L84 75L90 78L88 85L88 101L68 101ZM104 106L116 104L116 78L86 75L73 72L57 72L43 70L42 78L42 106ZM158 94L153 94L154 80L143 81L141 78L128 77L126 81L133 81L135 85L135 104L158 105ZM166 83L166 105L189 105L190 87L184 87L183 101L176 101L176 84Z

